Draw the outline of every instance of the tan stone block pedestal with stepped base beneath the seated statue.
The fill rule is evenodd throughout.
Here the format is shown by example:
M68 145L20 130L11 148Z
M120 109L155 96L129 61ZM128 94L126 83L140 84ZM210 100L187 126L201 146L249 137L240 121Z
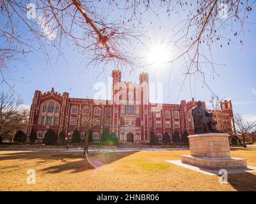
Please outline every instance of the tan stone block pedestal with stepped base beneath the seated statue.
M228 134L189 135L191 155L182 155L182 163L209 169L246 168L246 159L230 157Z

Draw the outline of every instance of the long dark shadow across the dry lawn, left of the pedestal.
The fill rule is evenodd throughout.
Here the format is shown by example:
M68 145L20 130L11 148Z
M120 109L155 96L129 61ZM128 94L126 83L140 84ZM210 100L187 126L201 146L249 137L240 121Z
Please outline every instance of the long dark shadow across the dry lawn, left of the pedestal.
M37 159L35 163L31 164L31 167L40 166L43 164L49 165L50 163L54 163L55 161L61 161L61 164L48 166L46 168L41 169L41 171L47 171L47 173L60 173L61 171L72 170L72 173L77 173L86 170L92 170L95 168L99 168L100 166L104 166L105 164L113 163L118 159L122 159L123 157L127 157L131 154L134 154L138 151L134 152L97 152L97 153L89 153L86 156L83 156L83 152L79 153L65 153L63 152L46 152L46 151L24 151L24 152L12 152L10 154L1 154L1 161L10 161L10 160L19 160L22 164L17 164L17 167L21 167L26 160ZM79 159L77 161L77 159ZM72 161L73 160L73 161ZM76 161L74 161L76 160ZM12 166L5 166L0 169L13 168Z

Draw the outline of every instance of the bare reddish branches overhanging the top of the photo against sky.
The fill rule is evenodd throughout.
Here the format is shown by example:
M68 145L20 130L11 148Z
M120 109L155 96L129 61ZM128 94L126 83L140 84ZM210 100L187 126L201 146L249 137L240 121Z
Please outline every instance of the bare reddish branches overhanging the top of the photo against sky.
M255 1L36 0L30 3L28 0L2 0L0 4L3 19L0 36L4 41L0 47L2 67L10 59L23 59L27 52L35 50L50 61L47 48L54 47L63 55L62 41L72 42L102 66L109 62L118 67L131 65L135 61L132 50L140 41L141 27L138 27L143 25L143 14L150 12L159 18L160 6L168 14L167 18L175 14L184 17L171 28L173 34L169 39L175 56L170 62L182 59L186 62L184 80L198 73L205 83L204 74L209 71L204 70L205 64L210 65L213 75L217 74L211 50L237 41L243 44L239 34L249 23L248 15ZM105 8L109 13L114 9L122 10L124 15L109 20L111 15L104 15ZM4 77L3 69L0 72Z

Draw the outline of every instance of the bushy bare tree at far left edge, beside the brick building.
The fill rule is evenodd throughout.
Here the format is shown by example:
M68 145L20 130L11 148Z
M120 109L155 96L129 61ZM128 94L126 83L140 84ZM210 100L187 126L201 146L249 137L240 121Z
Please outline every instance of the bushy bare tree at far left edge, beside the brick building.
M0 94L0 138L10 138L15 131L26 128L28 110L22 108L22 100L1 92Z

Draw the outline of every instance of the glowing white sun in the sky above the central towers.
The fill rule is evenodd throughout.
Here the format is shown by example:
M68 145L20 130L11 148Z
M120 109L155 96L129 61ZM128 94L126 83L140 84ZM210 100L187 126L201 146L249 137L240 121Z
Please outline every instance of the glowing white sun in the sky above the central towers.
M170 49L163 43L153 44L147 53L148 64L162 66L170 62Z

